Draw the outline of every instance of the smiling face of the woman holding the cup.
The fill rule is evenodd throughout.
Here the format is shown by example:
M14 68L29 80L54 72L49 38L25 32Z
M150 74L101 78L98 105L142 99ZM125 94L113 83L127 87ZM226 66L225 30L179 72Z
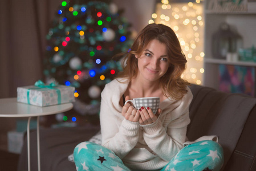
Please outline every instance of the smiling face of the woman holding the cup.
M169 67L166 46L157 39L151 40L138 59L139 79L155 82L163 76Z

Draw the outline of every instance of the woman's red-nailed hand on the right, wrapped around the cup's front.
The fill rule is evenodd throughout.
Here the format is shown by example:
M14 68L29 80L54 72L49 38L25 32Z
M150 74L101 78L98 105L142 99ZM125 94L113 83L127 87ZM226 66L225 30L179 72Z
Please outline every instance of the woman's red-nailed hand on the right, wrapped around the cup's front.
M141 125L147 125L147 124L155 123L155 121L157 120L157 117L159 117L161 113L161 109L157 110L156 115L154 115L153 111L149 107L147 109L145 109L145 107L141 107L139 109L139 112L140 112L139 123Z

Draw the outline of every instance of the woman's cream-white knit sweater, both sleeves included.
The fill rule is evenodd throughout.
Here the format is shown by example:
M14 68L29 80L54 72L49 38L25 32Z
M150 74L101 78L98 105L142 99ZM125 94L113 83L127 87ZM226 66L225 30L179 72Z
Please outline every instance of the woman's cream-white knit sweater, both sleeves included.
M101 93L102 145L115 152L128 168L163 168L185 143L193 95L187 88L188 93L181 100L169 97L160 103L162 112L155 123L140 125L121 115L123 106L119 101L127 87L128 83L115 79Z

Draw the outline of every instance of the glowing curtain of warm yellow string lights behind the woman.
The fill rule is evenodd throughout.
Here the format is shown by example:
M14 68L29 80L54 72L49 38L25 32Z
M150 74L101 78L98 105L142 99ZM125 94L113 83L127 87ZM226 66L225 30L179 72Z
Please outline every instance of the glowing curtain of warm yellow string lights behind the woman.
M156 13L148 23L161 23L171 27L180 40L180 44L188 60L187 68L181 78L190 83L202 84L204 73L203 42L204 21L203 5L200 0L189 3L172 3L162 0L157 4Z

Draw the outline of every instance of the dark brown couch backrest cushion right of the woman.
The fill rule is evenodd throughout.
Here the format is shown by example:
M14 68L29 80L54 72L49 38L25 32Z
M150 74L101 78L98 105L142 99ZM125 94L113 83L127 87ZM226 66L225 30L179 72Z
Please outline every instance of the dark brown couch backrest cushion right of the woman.
M247 117L256 99L237 93L224 93L213 88L192 85L193 101L187 136L190 141L205 135L217 135L224 148L226 162L235 149Z

